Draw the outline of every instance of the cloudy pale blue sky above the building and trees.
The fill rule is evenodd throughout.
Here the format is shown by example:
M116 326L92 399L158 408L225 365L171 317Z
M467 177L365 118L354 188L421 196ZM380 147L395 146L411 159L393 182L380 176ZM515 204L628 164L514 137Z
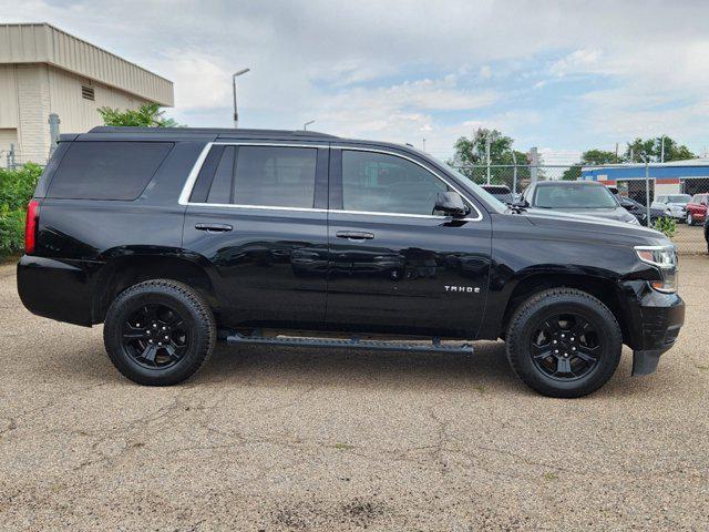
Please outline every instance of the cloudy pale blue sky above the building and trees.
M709 147L707 1L0 0L175 83L167 115L411 143L494 127L548 164L668 134Z

